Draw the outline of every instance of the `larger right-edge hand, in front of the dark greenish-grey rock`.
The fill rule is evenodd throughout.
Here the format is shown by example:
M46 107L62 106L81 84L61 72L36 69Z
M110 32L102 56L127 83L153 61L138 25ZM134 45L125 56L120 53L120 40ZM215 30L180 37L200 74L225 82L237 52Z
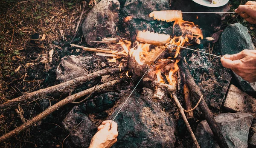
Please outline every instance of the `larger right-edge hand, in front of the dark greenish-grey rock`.
M243 50L221 58L224 67L232 69L249 83L256 82L256 50Z

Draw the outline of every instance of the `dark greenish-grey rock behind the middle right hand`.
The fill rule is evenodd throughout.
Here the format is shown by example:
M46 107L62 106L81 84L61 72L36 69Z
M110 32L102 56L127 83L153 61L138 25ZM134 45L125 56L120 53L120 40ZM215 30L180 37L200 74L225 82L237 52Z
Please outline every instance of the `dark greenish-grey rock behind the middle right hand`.
M222 55L237 54L244 49L255 50L250 34L248 33L248 29L242 26L240 23L235 23L228 26L221 35L220 43ZM236 73L234 74L243 91L256 91L256 83L248 83Z

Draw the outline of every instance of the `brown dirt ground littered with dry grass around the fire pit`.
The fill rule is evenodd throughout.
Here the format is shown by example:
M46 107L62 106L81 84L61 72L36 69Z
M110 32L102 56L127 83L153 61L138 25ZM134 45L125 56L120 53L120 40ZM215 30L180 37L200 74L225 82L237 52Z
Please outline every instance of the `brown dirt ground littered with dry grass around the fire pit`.
M87 1L84 16L94 6ZM98 2L98 0L96 0ZM231 0L231 11L245 1ZM84 51L63 51L75 35L82 0L1 0L0 1L0 103L55 85L55 70L62 55L86 54ZM84 17L83 16L83 17ZM241 17L230 15L223 28L240 22L246 26L256 44L256 27ZM64 37L63 35L64 34ZM44 39L45 35L45 39ZM44 40L42 40L42 38ZM81 42L76 38L76 42ZM47 59L53 50L52 62ZM52 103L57 100L52 100ZM24 118L41 112L38 103L30 102L23 108ZM3 142L0 147L61 147L69 133L61 128L61 121L73 105L60 108L47 119L18 136ZM63 113L63 114L62 114ZM21 125L15 109L0 111L0 135Z

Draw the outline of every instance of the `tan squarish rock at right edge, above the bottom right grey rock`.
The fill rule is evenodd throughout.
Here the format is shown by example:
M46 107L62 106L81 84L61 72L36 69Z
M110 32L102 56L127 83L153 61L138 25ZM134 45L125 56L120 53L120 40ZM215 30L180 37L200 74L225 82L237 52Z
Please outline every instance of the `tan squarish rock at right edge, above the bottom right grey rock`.
M234 85L230 85L223 107L227 111L249 113L256 118L256 99Z

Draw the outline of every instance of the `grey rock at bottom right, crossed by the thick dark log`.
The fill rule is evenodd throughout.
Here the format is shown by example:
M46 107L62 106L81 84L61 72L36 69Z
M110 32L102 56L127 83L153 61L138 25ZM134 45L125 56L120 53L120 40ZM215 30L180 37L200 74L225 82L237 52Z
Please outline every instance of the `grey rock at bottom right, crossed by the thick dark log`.
M251 114L223 113L216 116L215 120L230 148L247 148L249 129L253 120ZM219 148L206 120L198 125L195 137L201 148Z

